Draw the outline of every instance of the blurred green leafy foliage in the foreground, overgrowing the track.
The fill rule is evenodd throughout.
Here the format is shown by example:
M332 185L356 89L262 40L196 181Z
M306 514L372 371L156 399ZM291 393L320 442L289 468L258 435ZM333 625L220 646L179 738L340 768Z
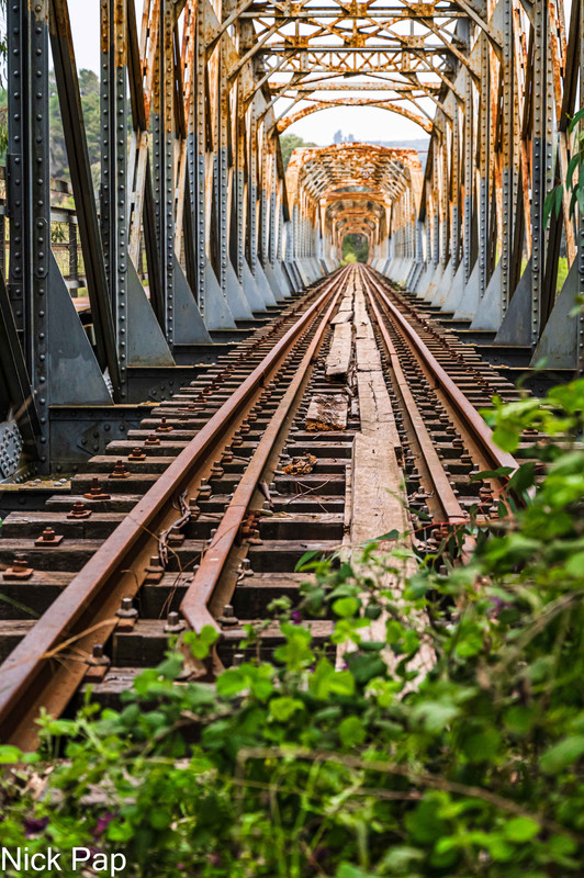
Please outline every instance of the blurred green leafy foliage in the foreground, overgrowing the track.
M279 601L274 663L249 658L215 690L177 686L171 652L120 712L88 701L75 721L44 719L44 756L60 745L66 761L41 800L3 781L2 844L124 851L125 875L160 878L579 876L583 409L584 380L495 401L503 448L525 429L551 439L524 440L529 460L505 475L515 513L467 528L467 564L441 547L404 589L403 548L313 558L301 609ZM328 648L297 624L308 615L336 620ZM214 632L188 640L202 657Z

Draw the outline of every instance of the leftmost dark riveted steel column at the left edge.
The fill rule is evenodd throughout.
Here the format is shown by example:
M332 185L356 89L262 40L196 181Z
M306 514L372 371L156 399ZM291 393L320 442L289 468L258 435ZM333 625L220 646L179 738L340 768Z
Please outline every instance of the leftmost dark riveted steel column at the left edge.
M10 218L9 295L41 429L42 463L49 459L47 282L50 258L48 140L49 0L8 4L7 202Z

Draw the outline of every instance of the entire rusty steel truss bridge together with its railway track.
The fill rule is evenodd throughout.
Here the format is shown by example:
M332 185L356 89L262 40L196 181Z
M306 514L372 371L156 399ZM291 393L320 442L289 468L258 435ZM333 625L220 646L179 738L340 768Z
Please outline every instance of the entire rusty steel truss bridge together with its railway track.
M22 748L88 687L117 708L183 631L218 632L186 662L213 682L308 555L400 534L464 563L471 516L525 500L482 409L584 370L582 0L92 5L93 72L76 0L5 13L0 741ZM379 142L285 153L338 108L380 111Z

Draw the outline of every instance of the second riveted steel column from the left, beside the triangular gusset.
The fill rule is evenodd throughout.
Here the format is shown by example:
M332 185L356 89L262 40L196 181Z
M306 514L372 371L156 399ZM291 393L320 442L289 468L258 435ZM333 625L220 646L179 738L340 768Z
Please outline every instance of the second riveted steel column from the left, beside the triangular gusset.
M126 0L101 0L101 240L112 300L121 397L126 396Z

